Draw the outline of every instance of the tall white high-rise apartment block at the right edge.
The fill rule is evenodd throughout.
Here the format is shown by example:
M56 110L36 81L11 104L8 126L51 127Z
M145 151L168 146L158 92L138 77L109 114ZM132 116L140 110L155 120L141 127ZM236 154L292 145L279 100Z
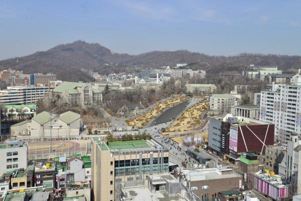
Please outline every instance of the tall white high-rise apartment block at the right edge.
M275 124L275 141L287 142L291 132L301 133L301 78L261 91L260 120Z

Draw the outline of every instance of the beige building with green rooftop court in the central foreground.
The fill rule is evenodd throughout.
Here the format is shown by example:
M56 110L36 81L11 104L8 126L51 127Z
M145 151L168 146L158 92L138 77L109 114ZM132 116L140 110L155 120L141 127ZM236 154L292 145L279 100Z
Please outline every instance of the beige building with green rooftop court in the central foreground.
M169 172L169 152L154 140L105 143L92 138L91 200L113 201L115 183Z

